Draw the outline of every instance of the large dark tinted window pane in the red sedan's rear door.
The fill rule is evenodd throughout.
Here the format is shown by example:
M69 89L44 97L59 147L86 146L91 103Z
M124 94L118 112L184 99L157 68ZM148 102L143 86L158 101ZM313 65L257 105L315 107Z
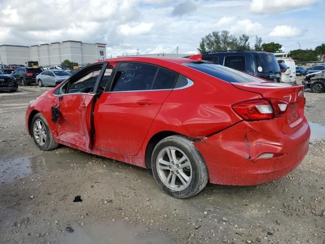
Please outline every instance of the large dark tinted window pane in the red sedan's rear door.
M150 90L157 67L138 64L121 63L114 77L112 92L132 90Z

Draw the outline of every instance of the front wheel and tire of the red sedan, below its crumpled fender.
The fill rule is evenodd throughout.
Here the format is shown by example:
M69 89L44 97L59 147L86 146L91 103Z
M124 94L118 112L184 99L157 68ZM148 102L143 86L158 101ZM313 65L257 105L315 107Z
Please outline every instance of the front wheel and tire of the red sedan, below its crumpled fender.
M37 113L31 120L30 130L36 145L44 151L58 146L50 131L49 125L41 113Z

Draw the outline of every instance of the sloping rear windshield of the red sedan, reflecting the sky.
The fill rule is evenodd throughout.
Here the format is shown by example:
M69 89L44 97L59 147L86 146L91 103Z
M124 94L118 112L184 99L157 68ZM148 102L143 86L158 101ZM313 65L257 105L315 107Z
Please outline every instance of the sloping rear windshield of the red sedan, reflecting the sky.
M183 63L183 65L228 82L244 83L253 81L263 81L262 79L248 75L244 72L224 67L222 65L216 65L210 62Z

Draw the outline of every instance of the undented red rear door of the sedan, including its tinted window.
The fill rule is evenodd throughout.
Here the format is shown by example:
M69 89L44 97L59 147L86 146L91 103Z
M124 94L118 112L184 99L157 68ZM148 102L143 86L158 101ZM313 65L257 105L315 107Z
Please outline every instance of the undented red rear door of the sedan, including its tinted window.
M143 63L120 63L112 76L111 86L94 105L94 146L133 156L140 150L178 74Z

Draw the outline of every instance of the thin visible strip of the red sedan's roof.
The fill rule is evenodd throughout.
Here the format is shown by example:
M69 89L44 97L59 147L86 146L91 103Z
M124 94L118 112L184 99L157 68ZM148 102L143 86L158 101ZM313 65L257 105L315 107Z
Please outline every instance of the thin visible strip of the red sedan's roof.
M157 62L163 62L163 63L174 63L174 64L182 64L182 63L189 63L193 62L193 59L183 58L183 57L117 57L117 58L110 58L101 60L98 63L104 63L104 62L144 62L144 63L157 63Z

